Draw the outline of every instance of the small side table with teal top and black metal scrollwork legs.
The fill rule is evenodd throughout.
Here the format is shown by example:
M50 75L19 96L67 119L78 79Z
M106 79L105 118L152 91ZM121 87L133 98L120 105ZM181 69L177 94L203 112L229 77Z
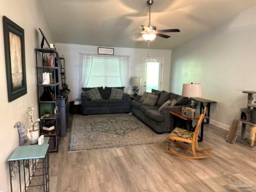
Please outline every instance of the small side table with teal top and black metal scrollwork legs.
M44 192L49 192L50 180L48 141L49 137L44 137L44 143L42 145L18 146L14 152L12 152L11 156L7 160L9 162L11 192L13 192L12 180L17 178L16 174L19 176L20 192L26 192L26 188L35 186L42 186ZM42 163L42 168L37 168L37 165L40 163ZM32 169L32 173L30 169ZM34 170L36 169L42 169L43 174L34 175ZM21 170L23 170L23 177L21 176ZM27 176L29 177L28 179L26 178ZM42 184L29 186L31 183L31 178L35 176L42 177ZM27 180L28 184L26 182ZM24 187L23 189L22 186Z

